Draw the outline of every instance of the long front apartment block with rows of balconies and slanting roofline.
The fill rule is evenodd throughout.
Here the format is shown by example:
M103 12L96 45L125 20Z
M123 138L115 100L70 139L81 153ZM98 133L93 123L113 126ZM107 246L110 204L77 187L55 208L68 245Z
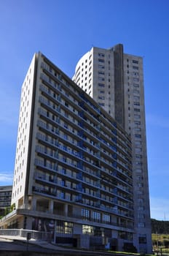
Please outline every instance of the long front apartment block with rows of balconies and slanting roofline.
M12 204L1 228L81 248L134 244L130 135L42 53L22 86Z

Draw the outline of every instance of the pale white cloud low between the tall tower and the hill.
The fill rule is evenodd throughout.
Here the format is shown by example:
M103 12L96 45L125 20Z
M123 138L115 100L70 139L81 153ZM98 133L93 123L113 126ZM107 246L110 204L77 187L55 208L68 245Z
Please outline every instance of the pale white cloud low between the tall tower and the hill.
M151 218L169 220L169 198L150 197Z

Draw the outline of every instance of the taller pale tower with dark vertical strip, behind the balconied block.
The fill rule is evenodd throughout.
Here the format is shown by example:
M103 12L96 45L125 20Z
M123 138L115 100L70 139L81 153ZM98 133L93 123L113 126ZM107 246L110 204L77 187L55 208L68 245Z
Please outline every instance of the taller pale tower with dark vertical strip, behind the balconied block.
M76 64L73 80L130 134L133 148L134 245L152 251L146 153L143 59L122 45L92 48Z

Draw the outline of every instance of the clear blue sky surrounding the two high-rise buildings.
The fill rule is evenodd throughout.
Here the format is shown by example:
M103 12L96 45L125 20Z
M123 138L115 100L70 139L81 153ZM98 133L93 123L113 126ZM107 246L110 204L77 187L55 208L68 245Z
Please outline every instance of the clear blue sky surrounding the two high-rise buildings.
M20 89L35 52L69 77L93 46L144 57L151 216L169 220L169 1L0 1L0 185L12 184Z

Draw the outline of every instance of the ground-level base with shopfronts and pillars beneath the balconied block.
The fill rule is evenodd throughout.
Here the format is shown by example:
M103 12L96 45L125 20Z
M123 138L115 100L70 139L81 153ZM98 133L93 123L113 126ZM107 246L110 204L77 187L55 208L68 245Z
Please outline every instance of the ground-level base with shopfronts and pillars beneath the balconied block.
M17 208L1 219L0 232L2 229L17 230L18 236L25 237L26 233L31 232L36 239L84 249L125 251L126 248L133 248L134 232L130 222L115 213L61 202L53 208L52 201L48 202L45 210L45 200L40 202L36 198L34 203L36 211L28 207Z

